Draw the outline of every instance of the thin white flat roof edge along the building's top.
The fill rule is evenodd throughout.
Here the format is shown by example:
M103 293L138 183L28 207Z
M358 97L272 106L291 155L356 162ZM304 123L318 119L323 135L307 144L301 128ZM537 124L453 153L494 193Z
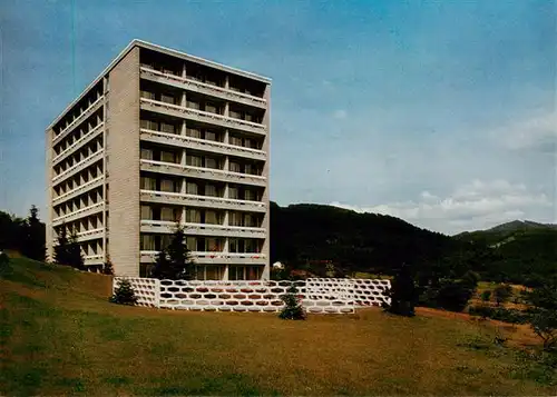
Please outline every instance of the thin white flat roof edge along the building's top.
M124 58L126 57L126 54L131 51L133 48L135 47L140 47L140 48L146 48L146 49L149 49L149 50L153 50L153 51L157 51L157 52L164 52L164 53L167 53L169 56L173 56L173 57L176 57L176 58L182 58L184 60L188 60L188 61L192 61L192 62L195 62L195 63L201 63L201 64L205 64L205 66L208 66L208 67L212 67L212 68L216 68L216 69L221 69L223 71L227 71L227 72L231 72L231 73L234 73L234 75L238 75L238 76L243 76L243 77L246 77L248 79L253 79L253 80L258 80L261 82L264 82L264 83L267 83L270 85L271 83L271 79L268 77L264 77L264 76L260 76L260 75L255 75L255 73L252 73L252 72L248 72L248 71L244 71L244 70L241 70L241 69L236 69L236 68L232 68L232 67L228 67L226 64L222 64L222 63L218 63L218 62L214 62L214 61L211 61L211 60L207 60L207 59L203 59L203 58L199 58L199 57L194 57L194 56L190 56L190 54L187 54L185 52L180 52L178 50L173 50L173 49L169 49L169 48L166 48L166 47L162 47L162 46L157 46L157 44L154 44L154 43L150 43L150 42L147 42L147 41L144 41L144 40L139 40L139 39L134 39L131 40L131 42L129 44L126 46L126 48L124 50L120 51L120 53L118 53L118 56L100 72L100 75L95 79L92 80L92 82L87 86L85 88L85 90L76 98L71 101L70 105L68 105L66 107L66 109L62 110L62 112L60 115L58 115L58 117L47 127L47 131L49 129L51 129L58 121L60 121L60 119L77 103L79 102L85 96L87 92L89 92L89 90L95 87L108 72L110 72L110 70L113 70L113 68Z

